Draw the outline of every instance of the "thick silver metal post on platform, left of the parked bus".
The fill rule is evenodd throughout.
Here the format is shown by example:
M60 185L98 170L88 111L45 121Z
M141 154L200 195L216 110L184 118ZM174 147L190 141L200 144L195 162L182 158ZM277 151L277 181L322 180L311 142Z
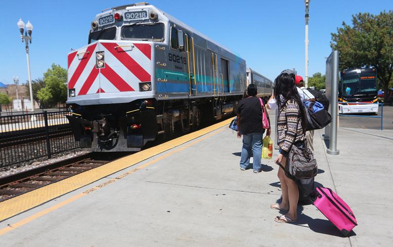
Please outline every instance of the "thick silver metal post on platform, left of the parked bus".
M337 112L338 112L338 107L337 107L337 97L338 97L338 51L335 50L332 52L332 71L331 71L331 77L332 77L332 85L331 85L331 111L332 111L332 123L330 124L330 143L329 143L329 149L326 150L327 154L330 155L339 155L340 151L337 150Z

